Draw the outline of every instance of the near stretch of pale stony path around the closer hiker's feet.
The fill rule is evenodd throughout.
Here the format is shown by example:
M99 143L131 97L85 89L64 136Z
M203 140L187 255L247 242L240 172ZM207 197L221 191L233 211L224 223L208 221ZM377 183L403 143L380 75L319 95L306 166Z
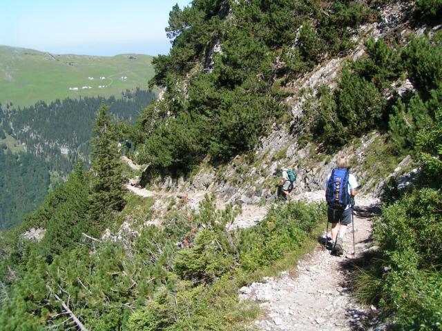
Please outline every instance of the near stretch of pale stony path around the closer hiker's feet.
M369 245L372 222L368 215L378 200L360 197L356 204L354 256L350 254L353 250L350 226L342 257L332 256L318 244L294 270L282 272L279 277L266 277L266 283L252 283L241 289L241 299L261 301L265 316L255 321L258 330L364 330L362 321L367 319L368 312L352 299L347 288L346 276L350 271L346 265Z

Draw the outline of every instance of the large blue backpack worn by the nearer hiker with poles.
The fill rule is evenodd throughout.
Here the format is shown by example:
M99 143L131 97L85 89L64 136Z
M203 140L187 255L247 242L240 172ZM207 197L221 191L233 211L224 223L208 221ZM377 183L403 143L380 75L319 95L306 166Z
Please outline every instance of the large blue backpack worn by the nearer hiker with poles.
M345 210L349 204L348 177L347 168L336 168L332 171L332 175L327 181L327 190L325 191L325 199L329 208Z

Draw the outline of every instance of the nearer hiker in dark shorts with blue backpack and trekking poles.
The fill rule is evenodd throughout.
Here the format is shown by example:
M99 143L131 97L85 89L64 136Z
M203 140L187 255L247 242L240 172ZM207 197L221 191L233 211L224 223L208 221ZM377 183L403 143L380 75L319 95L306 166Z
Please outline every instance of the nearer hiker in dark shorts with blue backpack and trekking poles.
M327 232L328 223L332 223L332 254L338 256L343 254L343 239L347 225L352 223L353 201L358 186L354 174L349 173L347 157L339 157L337 168L327 177L325 189L325 199L328 205Z

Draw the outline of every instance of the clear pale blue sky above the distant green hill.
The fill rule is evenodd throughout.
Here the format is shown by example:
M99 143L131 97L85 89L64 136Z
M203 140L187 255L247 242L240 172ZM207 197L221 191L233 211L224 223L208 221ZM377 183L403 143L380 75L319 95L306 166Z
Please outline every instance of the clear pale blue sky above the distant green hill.
M164 28L190 0L1 0L0 45L55 54L167 54Z

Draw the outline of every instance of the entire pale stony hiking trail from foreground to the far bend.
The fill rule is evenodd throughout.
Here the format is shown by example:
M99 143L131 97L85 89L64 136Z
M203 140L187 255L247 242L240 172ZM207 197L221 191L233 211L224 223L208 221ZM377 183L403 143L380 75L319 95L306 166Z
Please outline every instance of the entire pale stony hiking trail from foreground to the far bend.
M186 205L198 210L198 203L211 190L192 192L151 191L128 183L126 188L141 197L157 197L154 208L160 208L162 198L175 197L184 199ZM294 195L294 201L324 201L323 190L303 192ZM344 254L335 257L325 250L324 232L318 238L313 252L305 254L298 264L278 277L265 277L262 283L252 283L240 289L241 300L259 301L263 314L254 322L254 327L265 331L291 330L368 330L374 325L372 317L375 307L361 308L352 297L349 278L354 272L354 261L360 259L367 250L376 250L372 246L372 217L378 212L381 201L372 195L356 196L354 212L354 234L356 252L353 250L353 227L350 224L344 239ZM219 209L227 201L217 199ZM230 228L239 226L248 228L264 219L271 203L266 205L243 204L240 214ZM328 236L330 237L330 227ZM382 330L382 328L376 328Z

